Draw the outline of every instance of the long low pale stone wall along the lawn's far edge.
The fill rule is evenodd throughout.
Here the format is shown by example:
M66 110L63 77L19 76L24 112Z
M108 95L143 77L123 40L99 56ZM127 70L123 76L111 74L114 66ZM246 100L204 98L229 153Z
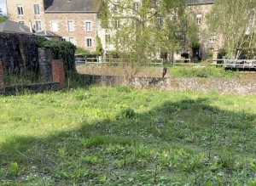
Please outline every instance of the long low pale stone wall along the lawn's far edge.
M86 76L84 76L85 78ZM125 85L120 76L87 76L87 81L100 86ZM256 81L234 79L204 79L204 78L166 78L166 77L134 77L129 80L131 87L149 88L157 87L164 90L195 91L237 95L256 95Z

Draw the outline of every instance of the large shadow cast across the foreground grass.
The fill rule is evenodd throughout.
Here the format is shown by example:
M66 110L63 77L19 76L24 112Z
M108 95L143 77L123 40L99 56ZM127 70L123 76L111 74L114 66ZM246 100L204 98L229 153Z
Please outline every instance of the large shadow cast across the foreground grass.
M0 183L203 185L207 180L224 183L224 178L231 183L241 170L253 177L240 158L256 152L255 115L220 110L208 99L168 101L144 113L126 111L116 113L118 120L84 121L79 130L46 138L9 138L0 144ZM15 173L10 162L18 163ZM248 179L237 180L244 184Z

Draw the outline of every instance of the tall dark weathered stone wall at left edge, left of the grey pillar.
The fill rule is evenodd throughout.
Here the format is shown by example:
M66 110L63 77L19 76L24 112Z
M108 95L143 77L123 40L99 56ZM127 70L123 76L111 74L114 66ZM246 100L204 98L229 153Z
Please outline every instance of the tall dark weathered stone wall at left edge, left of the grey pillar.
M20 70L38 72L38 45L35 36L0 33L0 59L3 70L15 73Z

